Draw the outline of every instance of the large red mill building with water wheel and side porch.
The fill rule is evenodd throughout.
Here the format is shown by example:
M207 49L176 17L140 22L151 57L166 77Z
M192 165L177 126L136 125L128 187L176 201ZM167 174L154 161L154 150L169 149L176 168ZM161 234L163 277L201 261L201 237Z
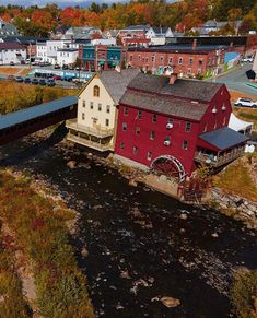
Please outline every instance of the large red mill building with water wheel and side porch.
M222 167L247 140L227 128L231 111L224 84L139 73L119 103L115 153L179 180L200 163Z

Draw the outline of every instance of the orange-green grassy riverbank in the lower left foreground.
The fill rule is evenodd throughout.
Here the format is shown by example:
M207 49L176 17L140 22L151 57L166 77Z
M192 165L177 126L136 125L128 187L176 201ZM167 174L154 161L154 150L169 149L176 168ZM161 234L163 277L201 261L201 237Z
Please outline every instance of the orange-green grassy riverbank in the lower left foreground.
M38 314L93 318L86 278L78 269L69 244L67 222L74 214L63 202L37 195L28 178L14 178L4 170L0 170L0 220L33 266ZM0 276L0 295L7 285L3 282ZM0 317L4 317L1 311Z

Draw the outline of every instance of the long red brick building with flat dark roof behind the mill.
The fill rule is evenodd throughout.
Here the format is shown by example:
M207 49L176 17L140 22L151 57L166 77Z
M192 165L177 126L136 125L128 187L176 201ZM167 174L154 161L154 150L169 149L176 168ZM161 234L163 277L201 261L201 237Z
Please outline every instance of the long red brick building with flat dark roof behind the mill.
M168 45L149 48L129 48L127 66L164 74L166 71L195 78L222 72L224 46Z

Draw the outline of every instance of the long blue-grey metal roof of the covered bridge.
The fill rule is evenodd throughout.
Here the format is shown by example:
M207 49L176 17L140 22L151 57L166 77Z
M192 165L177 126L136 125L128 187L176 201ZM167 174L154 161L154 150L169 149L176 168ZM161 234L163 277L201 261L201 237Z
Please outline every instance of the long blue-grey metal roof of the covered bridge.
M75 105L78 103L77 96L67 96L49 103L44 103L37 106L28 107L15 113L0 116L0 129L4 129L36 117L40 117L56 110Z

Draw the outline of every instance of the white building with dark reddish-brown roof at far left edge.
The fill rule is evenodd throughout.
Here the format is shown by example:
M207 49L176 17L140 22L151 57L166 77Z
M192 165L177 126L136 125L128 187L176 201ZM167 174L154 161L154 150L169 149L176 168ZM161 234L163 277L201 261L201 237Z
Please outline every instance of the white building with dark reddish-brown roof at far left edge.
M0 43L0 64L20 64L26 59L26 48L19 43Z

